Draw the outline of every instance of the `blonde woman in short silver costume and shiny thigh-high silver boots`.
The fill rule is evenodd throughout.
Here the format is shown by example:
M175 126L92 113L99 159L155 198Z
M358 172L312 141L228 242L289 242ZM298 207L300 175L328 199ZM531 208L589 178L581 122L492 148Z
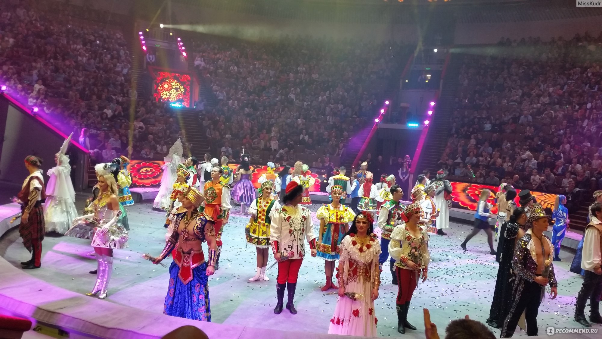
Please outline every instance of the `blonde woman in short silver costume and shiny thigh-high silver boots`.
M128 231L119 223L122 214L121 204L117 197L117 183L109 171L108 164L101 163L96 165L95 169L100 192L98 198L93 202L94 213L82 215L73 220L73 225L66 235L76 238L92 236L92 247L94 247L98 268L96 284L86 295L96 296L98 294L99 299L105 299L113 273L113 249L128 247Z

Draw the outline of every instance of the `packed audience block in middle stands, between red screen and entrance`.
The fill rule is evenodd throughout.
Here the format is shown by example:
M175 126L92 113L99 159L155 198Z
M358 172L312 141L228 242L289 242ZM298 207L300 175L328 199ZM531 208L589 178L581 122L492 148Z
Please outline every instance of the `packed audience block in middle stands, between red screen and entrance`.
M350 136L382 105L390 71L403 60L393 56L411 51L394 42L300 37L187 44L217 101L200 114L212 153L235 145L254 160L281 164L344 156Z

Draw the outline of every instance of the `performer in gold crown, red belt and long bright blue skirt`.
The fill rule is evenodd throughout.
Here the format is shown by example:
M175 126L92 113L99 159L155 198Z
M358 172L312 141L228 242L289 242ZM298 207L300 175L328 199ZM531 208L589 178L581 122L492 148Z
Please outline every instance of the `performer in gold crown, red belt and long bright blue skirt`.
M208 280L215 272L217 261L216 230L213 219L198 210L202 200L199 190L194 187L188 189L182 199L185 211L176 217L176 232L167 240L154 263L158 264L172 255L163 314L211 322ZM203 254L202 244L205 241L209 247L208 262L205 262Z

